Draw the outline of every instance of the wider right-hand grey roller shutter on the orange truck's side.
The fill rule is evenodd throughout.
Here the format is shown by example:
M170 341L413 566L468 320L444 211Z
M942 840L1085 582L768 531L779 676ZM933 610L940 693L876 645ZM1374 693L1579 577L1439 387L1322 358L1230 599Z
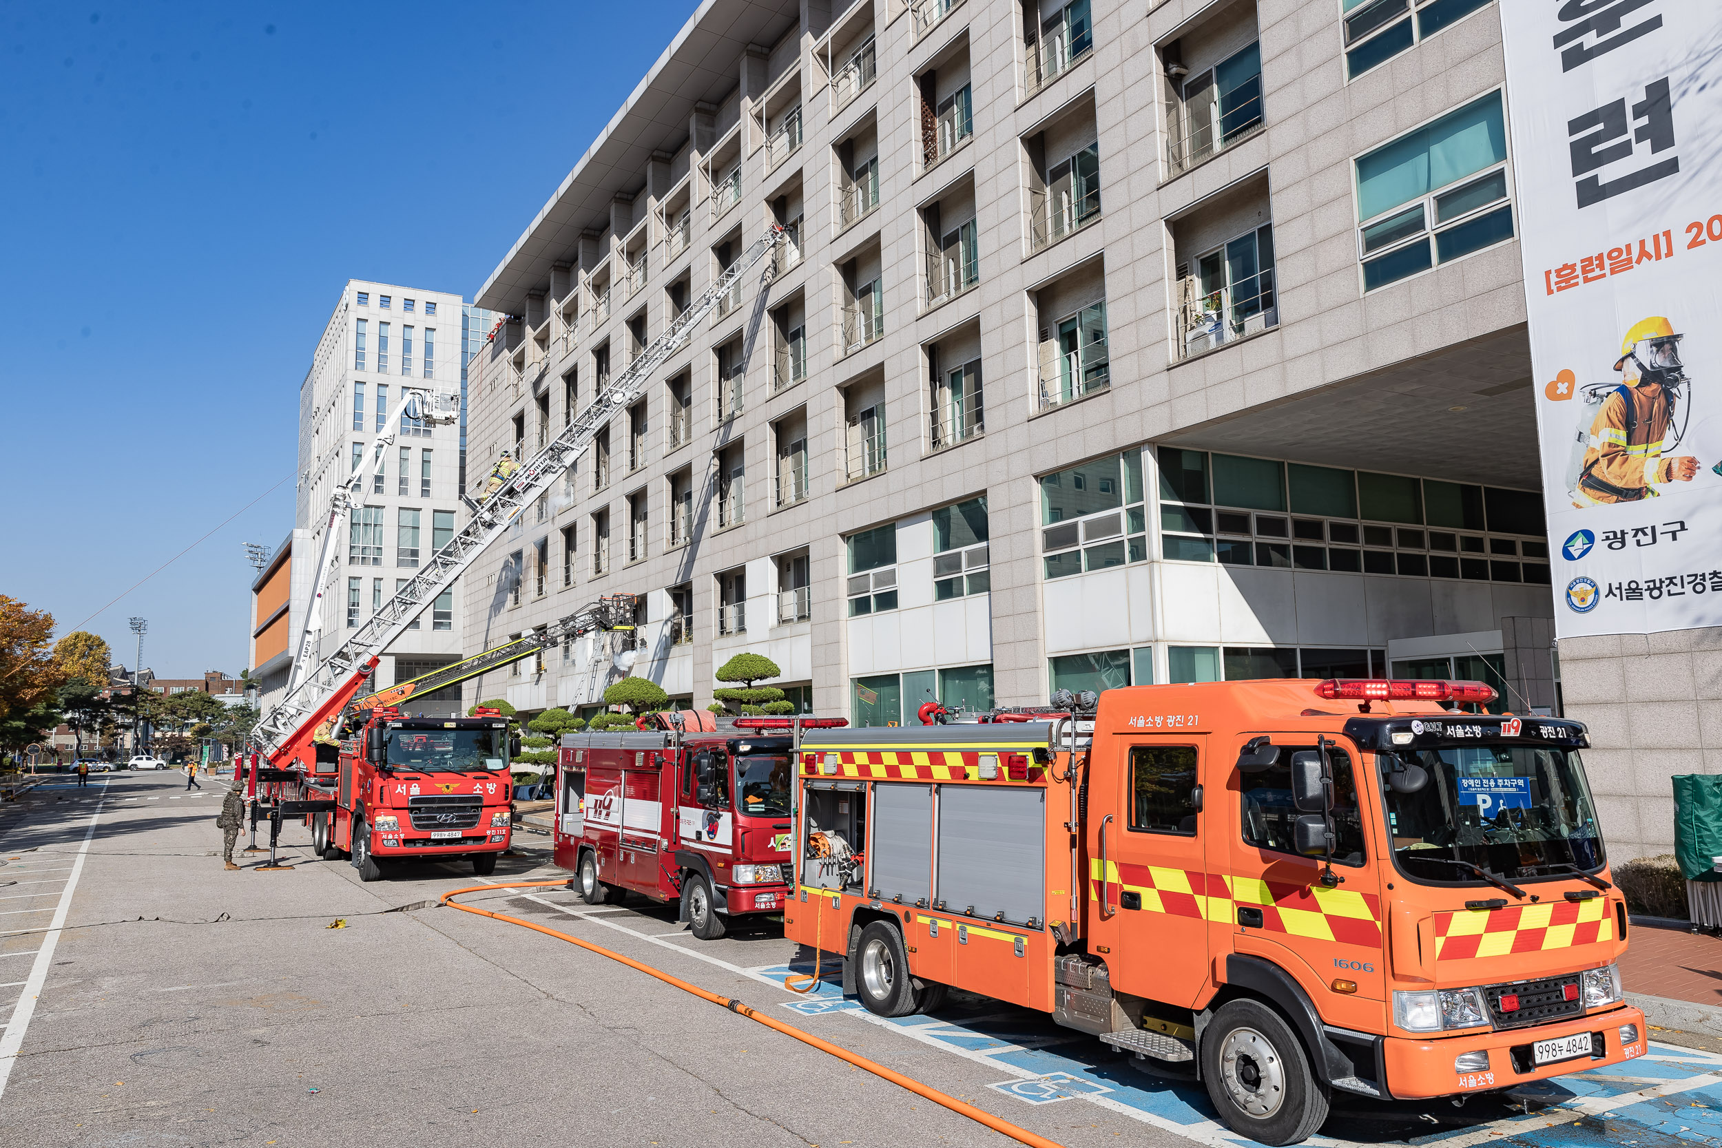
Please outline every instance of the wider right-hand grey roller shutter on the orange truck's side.
M938 900L947 912L1021 924L1045 916L1045 792L945 785L938 792Z

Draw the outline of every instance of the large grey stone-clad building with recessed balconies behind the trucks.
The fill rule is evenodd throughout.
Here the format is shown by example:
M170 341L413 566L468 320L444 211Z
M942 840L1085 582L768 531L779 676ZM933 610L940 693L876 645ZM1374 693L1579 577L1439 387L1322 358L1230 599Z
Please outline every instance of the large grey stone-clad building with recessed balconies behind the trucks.
M520 317L486 466L789 241L474 568L467 645L627 590L692 706L740 649L873 725L1286 675L1617 701L1562 699L1508 95L1491 0L701 7L477 296ZM591 652L468 701L591 704ZM1598 737L1622 855L1672 840Z

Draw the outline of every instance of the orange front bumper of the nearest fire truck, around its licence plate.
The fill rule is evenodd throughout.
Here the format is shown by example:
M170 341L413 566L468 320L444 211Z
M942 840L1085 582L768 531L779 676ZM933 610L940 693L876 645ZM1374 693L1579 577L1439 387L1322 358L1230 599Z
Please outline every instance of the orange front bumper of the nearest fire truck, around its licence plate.
M1638 1040L1622 1045L1620 1026L1638 1026ZM1536 1041L1591 1033L1591 1055L1555 1064L1534 1064L1529 1046ZM1600 1038L1598 1038L1600 1034ZM1584 1072L1622 1060L1643 1057L1648 1031L1645 1014L1631 1005L1607 1012L1591 1012L1558 1024L1538 1024L1524 1029L1472 1033L1467 1036L1409 1038L1388 1036L1383 1041L1383 1060L1388 1089L1400 1100L1424 1096L1452 1096L1457 1093L1510 1088L1526 1081L1543 1081L1552 1076ZM1459 1072L1453 1060L1460 1053L1488 1052L1486 1071Z

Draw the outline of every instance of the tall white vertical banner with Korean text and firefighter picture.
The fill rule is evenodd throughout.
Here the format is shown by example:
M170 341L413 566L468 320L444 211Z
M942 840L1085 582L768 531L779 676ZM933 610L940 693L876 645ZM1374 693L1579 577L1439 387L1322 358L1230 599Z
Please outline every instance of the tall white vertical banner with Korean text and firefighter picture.
M1555 630L1722 625L1722 7L1500 17Z

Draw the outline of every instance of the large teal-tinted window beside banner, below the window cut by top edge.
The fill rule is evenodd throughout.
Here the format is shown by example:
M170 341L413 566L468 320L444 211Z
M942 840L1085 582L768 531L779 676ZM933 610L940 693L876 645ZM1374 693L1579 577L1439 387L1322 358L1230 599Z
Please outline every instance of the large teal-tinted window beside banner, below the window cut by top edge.
M1512 236L1500 91L1357 158L1364 291Z

